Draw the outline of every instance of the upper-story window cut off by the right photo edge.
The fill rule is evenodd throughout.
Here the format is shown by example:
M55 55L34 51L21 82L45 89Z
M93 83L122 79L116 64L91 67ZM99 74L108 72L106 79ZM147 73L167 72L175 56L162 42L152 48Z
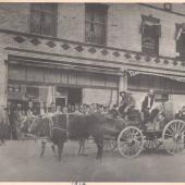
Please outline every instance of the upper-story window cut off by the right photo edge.
M185 60L185 23L176 24L176 58Z

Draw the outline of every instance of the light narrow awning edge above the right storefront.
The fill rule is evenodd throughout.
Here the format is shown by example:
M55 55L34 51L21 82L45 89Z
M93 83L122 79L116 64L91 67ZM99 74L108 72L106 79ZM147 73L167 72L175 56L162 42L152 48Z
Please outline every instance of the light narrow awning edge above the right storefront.
M174 75L170 75L170 74L150 73L150 72L135 71L135 70L127 70L127 73L128 73L130 76L136 76L138 74L146 74L146 75L165 77L165 78L169 78L169 79L183 82L183 83L185 82L185 76L174 76Z

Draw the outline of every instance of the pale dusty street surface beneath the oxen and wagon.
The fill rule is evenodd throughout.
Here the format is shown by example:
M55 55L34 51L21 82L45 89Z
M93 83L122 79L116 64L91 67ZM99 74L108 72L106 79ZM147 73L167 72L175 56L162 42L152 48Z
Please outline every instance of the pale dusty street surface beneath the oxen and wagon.
M96 146L86 145L87 156L77 156L78 144L67 141L62 161L48 146L39 157L39 141L7 141L0 146L0 181L26 182L185 182L185 153L169 156L161 148L125 159L119 151L96 160Z

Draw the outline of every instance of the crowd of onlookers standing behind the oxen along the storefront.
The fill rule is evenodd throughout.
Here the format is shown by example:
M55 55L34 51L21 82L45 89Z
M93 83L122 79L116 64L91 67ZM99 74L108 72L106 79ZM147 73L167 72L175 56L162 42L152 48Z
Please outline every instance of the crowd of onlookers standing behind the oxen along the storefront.
M39 116L47 113L78 113L78 114L87 114L87 113L102 113L108 114L111 111L118 108L118 106L103 106L99 103L82 103L82 104L67 104L67 106L59 106L52 102L50 106L46 106L42 101L34 102L32 100L26 103L12 103L8 102L7 108L4 109L7 113L8 120L7 123L0 124L0 137L7 139L18 139L17 136L17 126L18 122L22 120L17 120L25 116ZM24 120L24 119L23 119ZM5 131L5 132L4 132ZM3 139L1 139L3 143Z

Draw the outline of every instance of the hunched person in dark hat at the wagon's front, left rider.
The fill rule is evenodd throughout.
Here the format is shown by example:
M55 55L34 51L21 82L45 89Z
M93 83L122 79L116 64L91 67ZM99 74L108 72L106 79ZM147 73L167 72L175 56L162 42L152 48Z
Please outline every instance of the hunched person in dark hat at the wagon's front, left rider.
M128 115L135 108L135 98L132 96L128 91L121 91L121 101L120 101L120 108L119 112L124 118L125 115Z

